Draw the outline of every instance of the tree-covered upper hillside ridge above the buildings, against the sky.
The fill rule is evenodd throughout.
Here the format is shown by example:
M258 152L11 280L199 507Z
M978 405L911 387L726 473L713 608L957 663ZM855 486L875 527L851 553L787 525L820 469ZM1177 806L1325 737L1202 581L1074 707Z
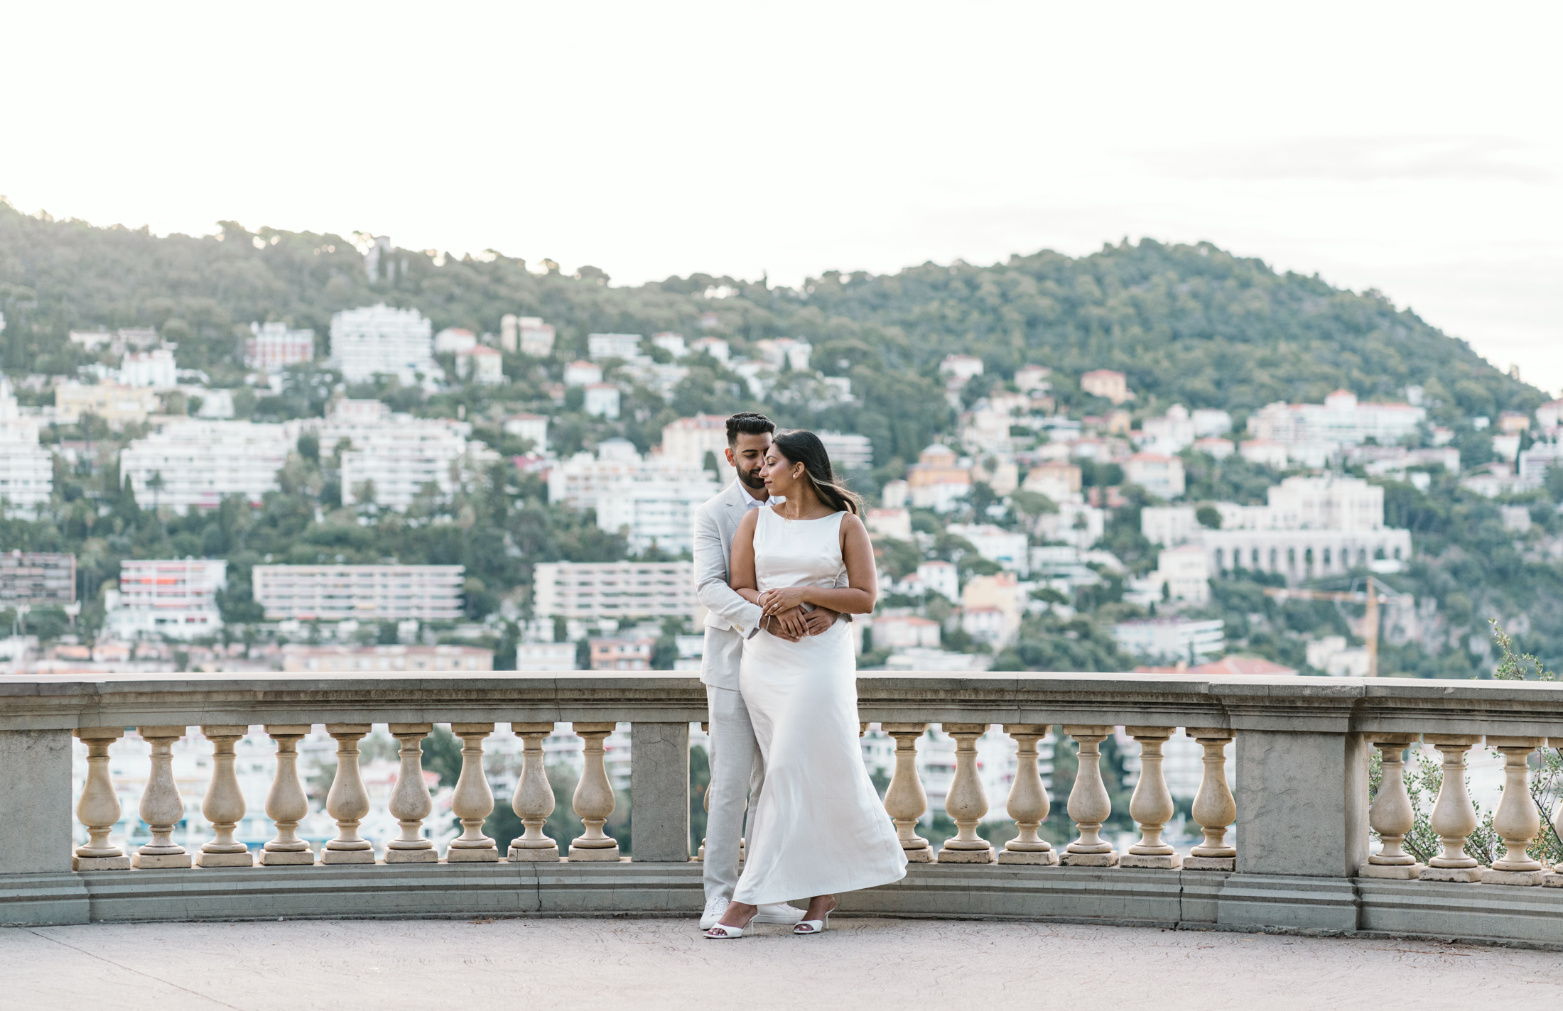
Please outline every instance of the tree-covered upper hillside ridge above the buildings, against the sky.
M219 236L155 238L39 220L0 205L5 367L67 372L80 364L69 330L150 325L178 341L183 366L220 373L234 364L234 325L280 319L309 327L324 355L331 313L386 302L420 309L436 330L497 331L505 313L542 316L566 347L581 352L592 331L692 334L702 314L714 313L714 331L739 350L761 338L810 339L816 367L850 369L866 388L863 406L891 417L902 414L896 408L908 392L927 389L917 380L932 380L950 352L980 355L985 378L1027 363L1052 366L1063 373L1057 384L1066 403L1077 397L1071 377L1118 369L1143 408L1225 408L1239 423L1264 403L1318 402L1339 386L1388 398L1418 383L1435 416L1443 411L1449 420L1543 400L1377 292L1275 273L1208 244L1146 239L1078 259L1041 252L988 267L827 272L803 291L699 273L614 288L591 267L566 277L533 273L506 256L458 261L410 250L389 256L391 280L370 283L341 236L220 227ZM731 294L706 298L714 288ZM894 425L855 427L875 438L885 458L917 448L900 444Z

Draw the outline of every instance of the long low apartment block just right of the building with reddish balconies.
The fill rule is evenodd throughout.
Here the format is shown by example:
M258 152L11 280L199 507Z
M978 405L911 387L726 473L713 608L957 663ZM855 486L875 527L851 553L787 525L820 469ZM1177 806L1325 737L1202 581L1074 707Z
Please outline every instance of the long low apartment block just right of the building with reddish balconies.
M267 619L392 622L461 617L463 566L255 566Z

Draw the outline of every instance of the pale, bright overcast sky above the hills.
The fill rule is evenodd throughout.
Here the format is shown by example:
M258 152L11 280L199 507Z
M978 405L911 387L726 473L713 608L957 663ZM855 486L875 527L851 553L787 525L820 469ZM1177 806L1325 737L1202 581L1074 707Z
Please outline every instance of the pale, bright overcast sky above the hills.
M616 284L1210 241L1557 395L1560 30L1544 3L25 5L0 194Z

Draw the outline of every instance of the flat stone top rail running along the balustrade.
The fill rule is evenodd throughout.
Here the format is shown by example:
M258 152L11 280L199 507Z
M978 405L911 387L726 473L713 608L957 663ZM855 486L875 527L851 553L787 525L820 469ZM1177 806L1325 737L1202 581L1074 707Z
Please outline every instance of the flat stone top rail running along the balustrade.
M1563 736L1563 684L1179 673L864 672L874 722ZM0 730L705 719L694 673L109 673L0 678Z

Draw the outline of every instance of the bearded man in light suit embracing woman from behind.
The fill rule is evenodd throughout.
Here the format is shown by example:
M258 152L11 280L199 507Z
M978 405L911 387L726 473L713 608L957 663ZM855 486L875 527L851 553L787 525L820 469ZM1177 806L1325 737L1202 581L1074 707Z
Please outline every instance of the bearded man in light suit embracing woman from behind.
M749 509L769 505L760 470L771 448L777 427L764 414L746 411L727 419L727 463L738 470L738 480L721 495L706 502L694 519L696 595L706 608L705 659L700 681L710 708L711 784L710 814L705 827L705 913L700 930L722 919L727 903L738 888L738 847L744 830L747 795L760 795L764 763L755 742L744 697L738 691L738 666L744 656L744 641L760 630L760 606L749 603L728 586L727 563L733 552L733 533ZM830 628L836 620L824 608L803 613L797 608L766 619L766 630L792 641ZM756 923L796 923L803 911L785 903L760 906Z

